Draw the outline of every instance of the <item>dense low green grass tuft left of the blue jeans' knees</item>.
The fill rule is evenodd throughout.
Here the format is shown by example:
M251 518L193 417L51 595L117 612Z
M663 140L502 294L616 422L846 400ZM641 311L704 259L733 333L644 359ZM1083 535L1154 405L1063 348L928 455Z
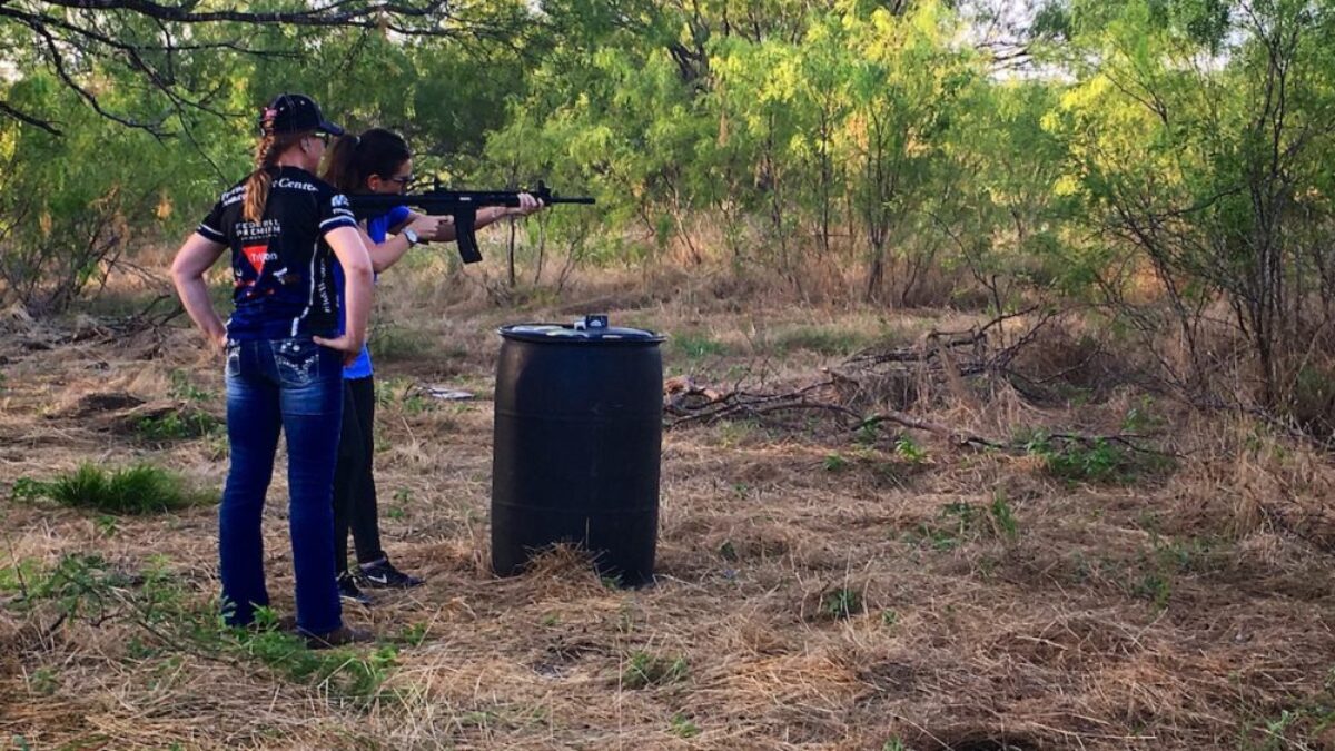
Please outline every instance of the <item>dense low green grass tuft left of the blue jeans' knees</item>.
M11 497L17 501L47 498L63 506L115 516L162 513L212 501L211 493L188 489L178 474L150 464L116 470L83 464L53 480L20 477Z

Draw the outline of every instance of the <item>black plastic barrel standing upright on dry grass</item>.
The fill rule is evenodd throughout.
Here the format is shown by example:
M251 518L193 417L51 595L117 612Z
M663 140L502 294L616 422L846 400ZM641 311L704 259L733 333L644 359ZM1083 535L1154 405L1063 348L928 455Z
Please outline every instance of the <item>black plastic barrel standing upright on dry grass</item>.
M503 326L491 464L491 568L574 543L625 585L653 579L663 337L607 326Z

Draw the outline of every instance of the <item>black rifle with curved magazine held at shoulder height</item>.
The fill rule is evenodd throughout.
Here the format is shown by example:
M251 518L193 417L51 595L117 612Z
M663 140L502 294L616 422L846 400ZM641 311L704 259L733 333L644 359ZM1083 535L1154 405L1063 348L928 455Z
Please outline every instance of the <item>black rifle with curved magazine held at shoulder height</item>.
M454 216L454 237L459 243L459 258L465 263L482 261L482 251L478 250L477 219L478 208L486 206L519 206L519 194L527 192L542 202L543 206L557 203L583 203L593 204L593 199L585 195L563 196L551 192L551 188L538 183L537 188L518 190L443 190L437 180L431 190L418 194L358 194L347 196L352 203L352 214L358 219L378 216L395 206L409 206L423 214L433 216Z

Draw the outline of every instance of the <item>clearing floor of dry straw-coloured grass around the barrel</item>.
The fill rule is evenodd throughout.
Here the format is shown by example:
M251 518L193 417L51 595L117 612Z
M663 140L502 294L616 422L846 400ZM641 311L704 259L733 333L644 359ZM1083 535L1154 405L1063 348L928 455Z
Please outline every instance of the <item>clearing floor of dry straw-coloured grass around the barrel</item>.
M216 494L220 432L148 438L136 425L172 410L220 416L222 366L179 319L125 334L89 317L0 317L0 743L1335 748L1326 454L1127 385L1072 389L1064 404L965 386L890 405L1003 440L1135 422L1145 445L1175 454L1115 476L890 425L686 422L663 434L655 585L618 589L570 552L498 579L487 521L495 326L598 307L670 334L669 376L777 393L976 317L762 295L737 305L708 290L518 307L413 293L376 318L376 476L386 547L426 584L347 611L382 639L350 652L379 655L360 692L242 648L215 651L125 607L71 612L36 596L32 583L63 559L96 556L125 575L116 603L170 580L186 607L211 607L212 505L113 517L11 494L20 478L136 461ZM394 294L388 282L382 295ZM441 401L426 386L477 398ZM275 609L287 613L282 468L264 544Z

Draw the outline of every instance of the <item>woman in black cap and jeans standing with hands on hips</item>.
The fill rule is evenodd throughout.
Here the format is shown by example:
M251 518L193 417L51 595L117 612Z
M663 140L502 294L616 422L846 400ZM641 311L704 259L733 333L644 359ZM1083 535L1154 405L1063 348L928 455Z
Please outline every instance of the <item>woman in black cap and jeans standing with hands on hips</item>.
M230 624L248 625L268 605L260 520L282 430L298 632L311 647L362 641L370 635L342 619L331 502L343 365L366 341L371 261L347 198L315 176L330 136L343 130L299 94L275 98L259 126L255 170L222 195L172 263L186 310L227 362L223 608ZM227 249L236 309L224 327L204 273ZM342 303L335 266L346 281Z

